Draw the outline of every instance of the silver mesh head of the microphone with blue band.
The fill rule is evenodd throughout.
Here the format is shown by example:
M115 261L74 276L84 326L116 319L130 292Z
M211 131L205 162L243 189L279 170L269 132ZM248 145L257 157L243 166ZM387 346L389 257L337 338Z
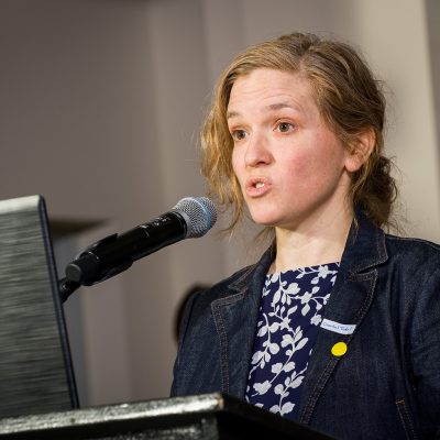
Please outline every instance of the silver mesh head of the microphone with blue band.
M205 235L217 221L217 209L208 197L185 197L173 208L186 220L186 239Z

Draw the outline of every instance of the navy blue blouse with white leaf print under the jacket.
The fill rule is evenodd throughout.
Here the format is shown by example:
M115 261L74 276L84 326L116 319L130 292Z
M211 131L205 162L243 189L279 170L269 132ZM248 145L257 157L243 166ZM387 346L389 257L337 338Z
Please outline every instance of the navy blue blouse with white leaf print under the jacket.
M268 274L245 399L295 420L308 361L339 263Z

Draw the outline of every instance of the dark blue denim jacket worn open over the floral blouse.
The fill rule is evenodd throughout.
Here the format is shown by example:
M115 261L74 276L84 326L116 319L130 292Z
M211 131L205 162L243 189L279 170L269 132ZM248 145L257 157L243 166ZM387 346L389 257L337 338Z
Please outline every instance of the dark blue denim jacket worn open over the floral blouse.
M172 395L244 398L274 253L188 301ZM338 439L440 438L440 246L351 228L302 384L298 421ZM354 329L354 330L353 330ZM334 356L331 348L348 351Z

